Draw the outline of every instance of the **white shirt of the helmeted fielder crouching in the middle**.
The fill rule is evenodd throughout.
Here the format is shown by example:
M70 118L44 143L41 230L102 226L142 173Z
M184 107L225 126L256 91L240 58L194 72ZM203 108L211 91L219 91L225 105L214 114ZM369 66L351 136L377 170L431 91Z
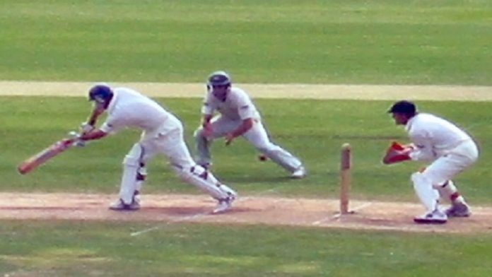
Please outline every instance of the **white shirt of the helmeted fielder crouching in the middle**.
M230 88L225 101L216 98L211 92L206 94L201 113L213 114L215 111L232 120L260 119L259 112L250 96L244 90L236 87Z

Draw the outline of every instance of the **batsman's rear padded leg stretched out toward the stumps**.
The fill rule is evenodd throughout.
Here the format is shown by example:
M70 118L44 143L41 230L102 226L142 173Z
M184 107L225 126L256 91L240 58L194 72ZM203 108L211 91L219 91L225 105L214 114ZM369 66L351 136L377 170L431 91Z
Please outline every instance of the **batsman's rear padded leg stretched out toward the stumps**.
M205 167L194 162L185 144L182 127L160 137L157 143L160 151L169 158L177 175L218 201L214 212L223 212L230 208L237 197L236 192L219 182Z

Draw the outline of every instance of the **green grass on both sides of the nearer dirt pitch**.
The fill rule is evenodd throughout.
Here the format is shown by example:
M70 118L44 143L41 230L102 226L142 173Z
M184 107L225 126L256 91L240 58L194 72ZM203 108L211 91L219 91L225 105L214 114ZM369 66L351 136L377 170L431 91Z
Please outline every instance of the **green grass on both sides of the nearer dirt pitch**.
M31 175L15 171L25 156L65 134L86 116L83 98L0 98L4 122L0 171L2 191L78 191L115 193L120 163L137 138L134 131L61 155ZM179 111L190 138L200 100L159 99ZM338 192L339 146L354 151L353 196L358 199L416 201L409 175L419 165L385 167L382 151L392 139L405 141L385 113L389 102L258 100L276 140L300 155L310 170L303 180L255 159L243 141L232 148L214 145L216 174L240 194L274 190L279 196L335 198ZM492 146L487 102L421 102L469 129L483 148L479 163L457 178L474 205L488 205L491 187L488 154ZM448 107L456 107L449 110ZM294 112L303 110L303 114ZM347 112L354 111L357 112ZM473 111L473 112L467 112ZM373 127L368 127L372 124ZM341 128L344 126L344 128ZM363 131L361 133L361 131ZM190 141L191 142L191 141ZM191 143L190 143L191 144ZM231 156L230 152L235 156ZM180 182L158 158L151 164L145 193L197 193ZM409 220L413 215L409 215ZM401 276L462 272L486 276L490 234L443 235L267 226L163 224L131 237L130 232L156 223L77 223L2 221L0 272L32 276ZM142 238L140 238L142 237ZM430 247L433 245L433 247ZM481 265L481 266L478 266ZM364 270L363 270L364 269ZM345 275L346 274L346 275Z

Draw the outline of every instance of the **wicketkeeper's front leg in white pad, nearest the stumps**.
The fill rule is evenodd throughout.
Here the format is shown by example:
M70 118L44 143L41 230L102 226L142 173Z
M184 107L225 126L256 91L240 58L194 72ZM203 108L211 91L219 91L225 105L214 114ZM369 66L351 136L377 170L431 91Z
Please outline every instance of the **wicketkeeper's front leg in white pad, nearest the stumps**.
M414 218L416 223L446 223L447 216L439 206L439 194L432 185L430 179L421 172L415 172L411 175L411 181L414 183L414 189L426 213Z

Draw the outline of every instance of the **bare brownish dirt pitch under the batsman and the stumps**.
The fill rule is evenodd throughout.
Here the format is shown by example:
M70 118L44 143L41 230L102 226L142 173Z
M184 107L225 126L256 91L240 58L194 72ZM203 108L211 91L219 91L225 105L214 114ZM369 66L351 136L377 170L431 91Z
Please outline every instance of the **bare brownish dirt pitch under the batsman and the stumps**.
M165 223L264 224L313 228L350 228L414 232L491 232L492 207L474 207L469 218L451 218L445 225L418 225L413 216L419 204L351 201L354 214L340 216L334 199L288 199L243 196L228 213L212 215L215 201L197 195L144 195L139 211L107 209L115 195L0 193L0 219L15 220L127 220L155 221L141 235Z

